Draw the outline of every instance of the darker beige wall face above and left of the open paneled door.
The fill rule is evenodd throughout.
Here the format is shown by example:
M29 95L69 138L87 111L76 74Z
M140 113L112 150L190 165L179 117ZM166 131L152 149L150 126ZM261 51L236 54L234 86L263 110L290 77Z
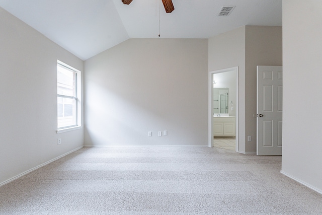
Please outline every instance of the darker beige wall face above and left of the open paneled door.
M256 152L257 66L282 65L282 27L246 26L245 45L245 135L246 152Z

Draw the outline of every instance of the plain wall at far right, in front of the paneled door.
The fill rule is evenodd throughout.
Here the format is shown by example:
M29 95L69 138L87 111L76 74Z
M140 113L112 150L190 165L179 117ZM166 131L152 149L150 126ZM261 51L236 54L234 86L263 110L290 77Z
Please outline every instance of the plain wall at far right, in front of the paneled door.
M303 11L309 12L309 16ZM320 193L321 11L321 1L283 1L282 173ZM303 112L303 107L310 111Z

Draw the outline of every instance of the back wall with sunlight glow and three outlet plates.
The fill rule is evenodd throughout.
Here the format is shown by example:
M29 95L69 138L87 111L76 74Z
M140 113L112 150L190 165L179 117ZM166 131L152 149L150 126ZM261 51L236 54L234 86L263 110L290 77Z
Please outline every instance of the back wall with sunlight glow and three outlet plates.
M207 39L129 39L86 60L85 145L207 145L207 53Z

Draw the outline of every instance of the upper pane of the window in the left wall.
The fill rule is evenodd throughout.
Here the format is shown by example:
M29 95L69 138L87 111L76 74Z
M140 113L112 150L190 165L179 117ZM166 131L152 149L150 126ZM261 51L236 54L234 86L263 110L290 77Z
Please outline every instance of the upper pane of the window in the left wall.
M75 71L57 64L57 94L76 97Z

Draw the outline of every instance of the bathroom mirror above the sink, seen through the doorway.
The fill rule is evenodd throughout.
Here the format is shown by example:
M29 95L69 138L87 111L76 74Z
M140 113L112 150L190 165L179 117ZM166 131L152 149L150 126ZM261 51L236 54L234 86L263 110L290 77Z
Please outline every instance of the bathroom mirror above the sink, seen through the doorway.
M228 113L228 88L213 88L213 113Z

